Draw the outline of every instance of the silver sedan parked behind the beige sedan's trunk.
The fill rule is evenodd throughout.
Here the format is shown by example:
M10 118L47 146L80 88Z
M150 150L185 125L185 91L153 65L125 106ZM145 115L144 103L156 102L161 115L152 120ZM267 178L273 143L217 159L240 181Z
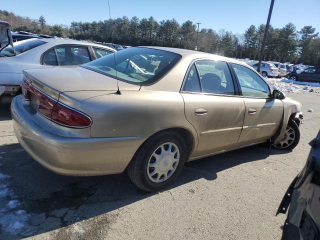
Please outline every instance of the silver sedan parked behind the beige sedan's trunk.
M2 102L21 93L23 69L79 65L114 51L111 47L86 41L55 38L14 42L13 47L9 45L0 51L0 85L5 86Z

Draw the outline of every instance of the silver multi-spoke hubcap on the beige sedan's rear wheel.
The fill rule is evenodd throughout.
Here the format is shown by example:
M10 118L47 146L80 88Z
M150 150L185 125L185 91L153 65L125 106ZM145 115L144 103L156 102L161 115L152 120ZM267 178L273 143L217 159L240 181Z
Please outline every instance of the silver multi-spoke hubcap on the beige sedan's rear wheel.
M179 162L179 148L173 142L165 142L155 148L146 168L148 177L153 182L168 179Z

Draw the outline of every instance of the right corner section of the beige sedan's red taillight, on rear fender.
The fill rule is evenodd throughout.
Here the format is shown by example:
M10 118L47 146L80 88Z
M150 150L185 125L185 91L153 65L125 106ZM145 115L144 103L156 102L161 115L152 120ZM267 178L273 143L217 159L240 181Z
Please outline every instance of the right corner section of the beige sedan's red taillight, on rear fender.
M59 102L53 107L51 120L71 127L87 127L91 124L88 116Z

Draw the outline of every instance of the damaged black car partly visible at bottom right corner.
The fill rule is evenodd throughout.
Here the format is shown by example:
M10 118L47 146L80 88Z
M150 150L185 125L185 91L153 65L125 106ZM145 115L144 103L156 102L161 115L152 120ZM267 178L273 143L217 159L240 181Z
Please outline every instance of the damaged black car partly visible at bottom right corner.
M320 238L320 131L309 144L306 163L289 185L276 212L285 214L288 209L282 240Z

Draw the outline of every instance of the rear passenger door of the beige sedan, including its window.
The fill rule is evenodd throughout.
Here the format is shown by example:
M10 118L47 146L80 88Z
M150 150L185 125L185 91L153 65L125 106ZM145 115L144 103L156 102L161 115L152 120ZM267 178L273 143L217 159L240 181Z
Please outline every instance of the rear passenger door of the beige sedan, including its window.
M232 148L244 117L244 102L225 61L197 60L190 66L181 95L185 117L198 134L195 156Z

